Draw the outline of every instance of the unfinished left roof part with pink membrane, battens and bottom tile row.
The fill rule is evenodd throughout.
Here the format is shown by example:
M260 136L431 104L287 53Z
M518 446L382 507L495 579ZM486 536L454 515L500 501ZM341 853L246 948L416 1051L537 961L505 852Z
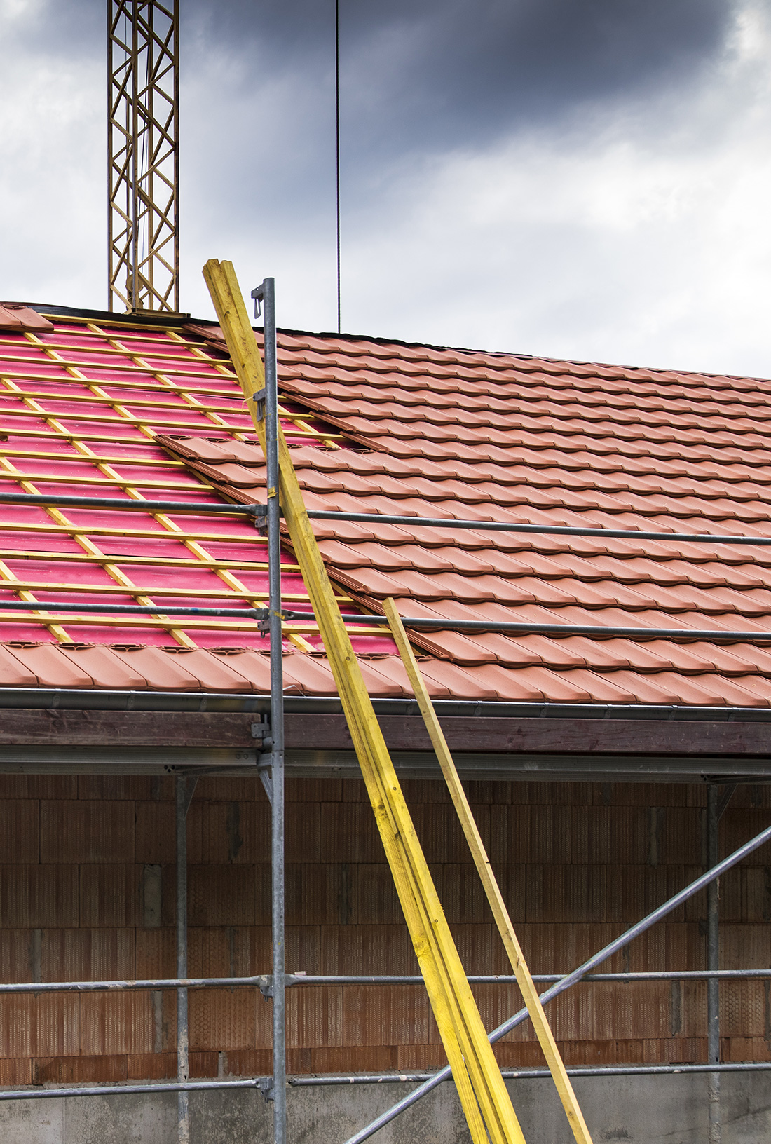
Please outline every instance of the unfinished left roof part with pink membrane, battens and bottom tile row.
M159 434L256 440L229 363L181 327L30 312L35 328L0 329L0 493L118 498L146 510L0 505L0 603L30 604L0 607L0 686L264 693L268 639L255 619L164 615L164 605L267 602L267 540L249 519L153 509L222 503ZM285 413L293 442L336 437L312 415ZM284 589L287 602L308 598L291 554ZM157 604L158 613L57 610L65 603ZM341 603L352 606L344 593ZM289 693L333 691L326 664L303 654L317 642L287 639L297 653L286 661Z

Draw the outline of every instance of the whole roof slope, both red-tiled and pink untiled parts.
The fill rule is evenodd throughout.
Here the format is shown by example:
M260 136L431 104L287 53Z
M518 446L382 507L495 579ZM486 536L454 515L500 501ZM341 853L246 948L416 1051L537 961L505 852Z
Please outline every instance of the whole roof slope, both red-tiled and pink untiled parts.
M264 500L264 467L217 327L53 316L0 332L0 492L146 500L148 510L0 506L0 686L268 688L254 620L162 605L262 605L265 541L239 518L153 500ZM333 335L279 335L283 424L309 507L484 521L771 534L769 383ZM315 522L344 610L757 630L765 548ZM291 549L287 604L308 596ZM158 604L72 615L57 602ZM366 620L377 696L405 693ZM771 649L413 635L437 697L769 706ZM287 690L334 690L312 623L288 629Z

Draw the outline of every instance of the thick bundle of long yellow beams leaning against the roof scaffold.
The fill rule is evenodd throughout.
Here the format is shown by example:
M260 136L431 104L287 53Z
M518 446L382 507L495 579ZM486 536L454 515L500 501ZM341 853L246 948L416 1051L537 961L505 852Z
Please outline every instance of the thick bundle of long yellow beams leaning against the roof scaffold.
M230 263L207 262L204 277L264 448L264 421L252 395L264 371ZM442 909L394 764L367 694L308 519L291 452L279 434L281 507L313 605L386 856L475 1144L524 1144L503 1079Z

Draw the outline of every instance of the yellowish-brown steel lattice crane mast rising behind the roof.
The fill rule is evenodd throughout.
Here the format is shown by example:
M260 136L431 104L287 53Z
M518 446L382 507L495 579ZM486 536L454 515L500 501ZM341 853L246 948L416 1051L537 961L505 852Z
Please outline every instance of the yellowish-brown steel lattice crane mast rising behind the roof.
M108 308L180 310L178 0L108 0Z

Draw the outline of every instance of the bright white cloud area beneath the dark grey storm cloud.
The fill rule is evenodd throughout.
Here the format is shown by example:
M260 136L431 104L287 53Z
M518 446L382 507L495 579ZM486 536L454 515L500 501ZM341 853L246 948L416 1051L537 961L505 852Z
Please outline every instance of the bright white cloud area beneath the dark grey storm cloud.
M101 307L104 62L37 42L45 7L0 0L0 293ZM747 0L690 90L380 169L349 157L344 328L771 374L770 48ZM232 257L245 289L277 278L283 325L333 328L331 76L184 51L185 309L210 315L200 267Z

